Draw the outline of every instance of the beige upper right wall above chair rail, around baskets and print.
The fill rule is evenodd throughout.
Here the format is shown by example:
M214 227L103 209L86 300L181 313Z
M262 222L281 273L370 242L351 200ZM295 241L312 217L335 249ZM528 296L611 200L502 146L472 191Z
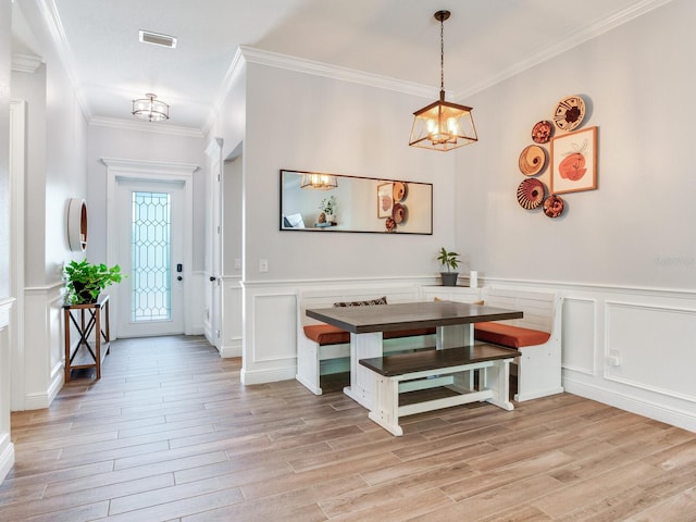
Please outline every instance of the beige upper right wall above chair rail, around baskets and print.
M463 100L481 140L457 156L457 247L480 273L696 289L696 130L684 117L695 16L695 2L675 0ZM599 127L598 189L561 195L566 213L551 220L517 203L518 158L574 94L588 101L583 127Z

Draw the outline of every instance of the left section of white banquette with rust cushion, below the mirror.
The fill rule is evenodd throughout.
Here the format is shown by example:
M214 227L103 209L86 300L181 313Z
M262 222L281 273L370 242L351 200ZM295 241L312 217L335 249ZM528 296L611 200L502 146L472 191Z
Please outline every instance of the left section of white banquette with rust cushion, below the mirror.
M372 300L386 297L387 302L420 300L417 285L374 285L371 287L312 288L298 293L297 373L296 378L315 395L322 394L321 377L350 371L350 334L321 323L304 313L307 309L331 308L335 302ZM435 347L435 330L391 332L385 335L385 353Z

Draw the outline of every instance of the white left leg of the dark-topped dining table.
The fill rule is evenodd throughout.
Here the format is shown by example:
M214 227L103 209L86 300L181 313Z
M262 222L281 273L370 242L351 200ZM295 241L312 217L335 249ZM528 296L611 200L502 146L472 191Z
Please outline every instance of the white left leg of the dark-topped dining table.
M382 332L350 334L350 386L344 393L369 410L375 397L375 374L361 365L360 359L382 357Z

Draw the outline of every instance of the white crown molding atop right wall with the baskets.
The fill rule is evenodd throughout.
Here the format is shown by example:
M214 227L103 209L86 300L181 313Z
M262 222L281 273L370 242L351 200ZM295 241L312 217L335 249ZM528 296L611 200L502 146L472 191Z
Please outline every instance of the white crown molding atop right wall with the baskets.
M635 2L629 8L616 12L611 16L604 17L601 20L595 21L585 27L582 27L573 33L570 33L567 38L558 41L556 45L550 47L544 47L539 52L531 55L526 60L523 60L513 66L509 67L506 71L500 72L495 76L490 76L481 82L472 84L470 87L455 91L453 99L458 102L461 100L475 95L476 92L481 92L489 87L493 87L500 82L505 82L513 76L517 76L524 71L527 71L540 63L546 62L563 52L567 52L574 47L577 47L586 41L589 41L598 36L608 33L611 29L619 27L632 20L646 14L657 8L660 8L667 3L670 3L672 0L642 0Z

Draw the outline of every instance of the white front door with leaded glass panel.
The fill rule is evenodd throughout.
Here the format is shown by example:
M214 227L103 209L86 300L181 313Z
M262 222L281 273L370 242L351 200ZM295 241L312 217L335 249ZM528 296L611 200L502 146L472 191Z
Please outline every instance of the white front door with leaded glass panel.
M116 179L119 337L184 333L184 184Z

